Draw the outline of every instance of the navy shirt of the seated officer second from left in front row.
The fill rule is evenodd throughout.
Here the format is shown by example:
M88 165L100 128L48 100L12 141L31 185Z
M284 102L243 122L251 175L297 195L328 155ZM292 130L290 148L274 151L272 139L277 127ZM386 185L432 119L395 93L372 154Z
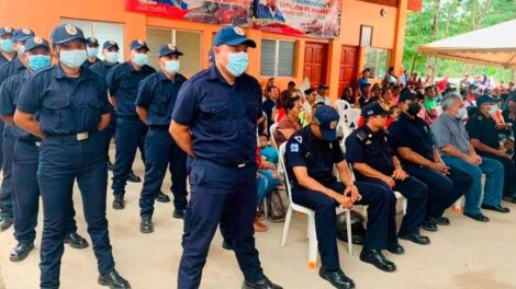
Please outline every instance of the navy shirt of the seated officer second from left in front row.
M391 175L394 172L394 154L386 130L373 132L367 125L357 128L346 139L346 159L351 163L366 163L385 175ZM357 178L363 180L360 173L356 175Z

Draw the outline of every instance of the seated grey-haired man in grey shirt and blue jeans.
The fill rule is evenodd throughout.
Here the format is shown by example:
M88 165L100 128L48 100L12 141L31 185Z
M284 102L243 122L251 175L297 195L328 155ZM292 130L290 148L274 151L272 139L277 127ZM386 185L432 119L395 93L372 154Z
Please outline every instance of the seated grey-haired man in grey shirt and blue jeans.
M446 165L467 172L473 184L465 192L464 216L475 221L487 222L482 215L484 209L508 212L501 206L504 185L504 166L493 159L481 158L469 141L462 119L467 115L465 105L459 93L452 92L441 102L444 113L431 125L437 147ZM485 174L485 188L482 199L482 174Z

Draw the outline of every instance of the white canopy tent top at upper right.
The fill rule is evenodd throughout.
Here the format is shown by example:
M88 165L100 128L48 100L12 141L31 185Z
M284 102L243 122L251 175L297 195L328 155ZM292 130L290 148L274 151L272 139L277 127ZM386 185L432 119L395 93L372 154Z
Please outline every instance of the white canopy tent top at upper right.
M419 46L417 53L469 63L516 69L515 32L516 19Z

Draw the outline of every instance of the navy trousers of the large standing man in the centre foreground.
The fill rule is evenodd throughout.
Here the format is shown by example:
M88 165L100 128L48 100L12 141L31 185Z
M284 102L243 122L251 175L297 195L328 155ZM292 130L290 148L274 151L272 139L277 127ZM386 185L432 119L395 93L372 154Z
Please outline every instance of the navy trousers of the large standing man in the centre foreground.
M210 243L224 211L238 265L248 281L263 278L255 247L257 166L229 167L203 159L189 159L190 204L184 217L179 289L199 288Z

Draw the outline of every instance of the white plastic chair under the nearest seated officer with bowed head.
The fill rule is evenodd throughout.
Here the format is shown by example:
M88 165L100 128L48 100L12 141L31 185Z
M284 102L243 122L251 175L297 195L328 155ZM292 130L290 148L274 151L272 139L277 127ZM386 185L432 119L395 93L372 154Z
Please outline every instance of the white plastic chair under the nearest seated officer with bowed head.
M287 236L289 234L289 227L290 221L292 220L293 211L299 211L305 213L309 218L309 267L316 268L317 267L317 234L315 231L315 211L309 209L306 207L300 206L292 200L292 190L291 190L291 183L289 180L289 175L287 174L287 166L284 163L284 151L285 151L287 143L282 143L279 149L279 159L280 159L280 166L283 169L284 177L285 177L285 189L289 194L289 209L287 211L287 217L284 220L283 226L283 235L281 238L281 246L284 246L287 243ZM346 224L347 224L347 232L348 232L348 252L351 254L351 213L348 209L344 210L346 212Z

